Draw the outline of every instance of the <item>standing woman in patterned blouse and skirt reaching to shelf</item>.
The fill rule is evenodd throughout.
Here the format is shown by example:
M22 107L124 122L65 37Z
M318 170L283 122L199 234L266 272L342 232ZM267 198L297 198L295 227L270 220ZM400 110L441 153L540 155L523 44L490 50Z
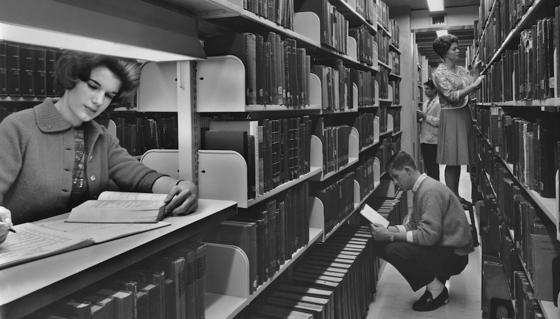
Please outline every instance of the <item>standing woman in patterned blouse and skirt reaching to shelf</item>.
M461 165L474 163L473 119L469 93L480 86L482 61L477 60L473 74L455 65L459 59L459 39L442 35L433 41L433 50L444 62L433 73L433 83L440 97L441 113L438 129L437 163L445 164L445 184L459 198L465 209L472 203L459 196Z

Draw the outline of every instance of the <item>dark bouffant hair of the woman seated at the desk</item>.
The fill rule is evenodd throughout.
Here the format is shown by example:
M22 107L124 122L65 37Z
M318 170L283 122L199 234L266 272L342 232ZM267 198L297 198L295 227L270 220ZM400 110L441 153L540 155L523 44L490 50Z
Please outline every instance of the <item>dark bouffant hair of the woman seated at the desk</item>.
M127 100L134 96L140 85L141 68L138 62L73 50L66 51L58 59L55 67L54 87L58 96L63 96L66 90L72 90L79 81L90 81L91 71L98 67L108 68L121 82L121 88L112 102Z

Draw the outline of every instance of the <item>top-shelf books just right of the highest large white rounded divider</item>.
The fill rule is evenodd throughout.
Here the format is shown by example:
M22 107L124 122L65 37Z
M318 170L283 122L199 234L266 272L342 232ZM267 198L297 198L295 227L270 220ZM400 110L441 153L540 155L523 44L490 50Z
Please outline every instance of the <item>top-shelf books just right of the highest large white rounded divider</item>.
M321 44L346 54L348 47L348 20L328 0L301 0L295 2L296 12L314 12L321 21Z

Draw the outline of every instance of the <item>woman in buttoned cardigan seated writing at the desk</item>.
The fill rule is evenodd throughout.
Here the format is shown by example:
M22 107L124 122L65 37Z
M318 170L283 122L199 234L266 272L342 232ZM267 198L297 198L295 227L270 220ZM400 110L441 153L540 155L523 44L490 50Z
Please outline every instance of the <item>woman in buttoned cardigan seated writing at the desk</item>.
M166 211L192 213L197 187L144 166L92 121L109 104L131 98L140 82L134 60L67 51L55 68L60 98L0 123L0 242L11 224L69 212L109 189L169 194Z

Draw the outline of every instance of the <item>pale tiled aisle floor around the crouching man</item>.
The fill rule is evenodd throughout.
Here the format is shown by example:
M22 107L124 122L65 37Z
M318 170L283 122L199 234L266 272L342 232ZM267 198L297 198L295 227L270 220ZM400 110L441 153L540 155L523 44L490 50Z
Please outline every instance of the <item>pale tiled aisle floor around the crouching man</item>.
M461 167L461 179L459 182L459 194L470 200L470 179L466 166ZM440 165L441 181L444 179L445 166ZM467 213L468 216L468 212ZM478 223L477 223L478 224ZM480 246L469 255L469 264L459 275L452 276L447 281L449 290L449 302L435 311L416 312L412 310L412 303L417 301L424 288L416 293L403 276L391 265L386 264L377 285L377 293L371 302L366 319L408 319L408 318L446 318L446 319L480 319L481 295L481 256Z

